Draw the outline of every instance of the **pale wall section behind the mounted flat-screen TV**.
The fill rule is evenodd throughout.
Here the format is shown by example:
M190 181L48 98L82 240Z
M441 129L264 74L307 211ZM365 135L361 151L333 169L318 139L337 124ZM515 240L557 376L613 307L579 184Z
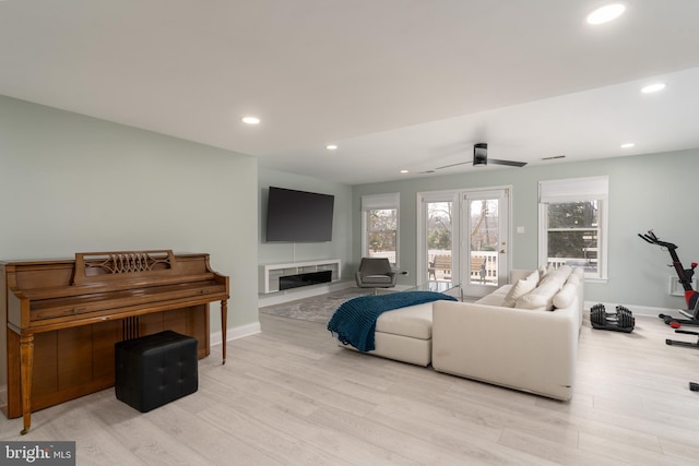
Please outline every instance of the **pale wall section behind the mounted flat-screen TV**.
M342 261L342 278L352 276L352 187L317 178L260 167L259 179L259 263L274 264L322 259ZM266 201L270 187L310 191L335 196L332 241L328 242L266 242Z

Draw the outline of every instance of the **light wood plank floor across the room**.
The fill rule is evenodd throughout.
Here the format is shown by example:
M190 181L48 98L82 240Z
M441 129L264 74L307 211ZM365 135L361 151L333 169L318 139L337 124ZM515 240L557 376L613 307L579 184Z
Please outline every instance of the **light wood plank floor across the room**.
M322 324L262 333L200 361L200 387L147 414L107 390L21 419L0 440L75 440L79 465L699 464L699 351L582 328L572 402L337 348ZM679 338L679 336L678 336ZM685 337L684 339L691 339Z

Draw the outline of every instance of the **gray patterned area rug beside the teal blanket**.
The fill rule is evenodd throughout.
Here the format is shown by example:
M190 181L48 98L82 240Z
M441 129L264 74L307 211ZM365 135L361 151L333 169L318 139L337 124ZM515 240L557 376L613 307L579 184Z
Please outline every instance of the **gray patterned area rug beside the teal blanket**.
M370 289L345 288L325 295L299 299L297 301L260 308L264 314L282 318L300 319L304 321L328 323L335 309L345 301L358 296L370 295Z

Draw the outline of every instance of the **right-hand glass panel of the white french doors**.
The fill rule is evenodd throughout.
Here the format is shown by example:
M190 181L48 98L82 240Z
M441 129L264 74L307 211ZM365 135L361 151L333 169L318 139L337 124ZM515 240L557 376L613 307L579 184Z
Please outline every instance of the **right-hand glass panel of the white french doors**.
M485 296L508 282L509 189L462 194L461 287L466 296Z

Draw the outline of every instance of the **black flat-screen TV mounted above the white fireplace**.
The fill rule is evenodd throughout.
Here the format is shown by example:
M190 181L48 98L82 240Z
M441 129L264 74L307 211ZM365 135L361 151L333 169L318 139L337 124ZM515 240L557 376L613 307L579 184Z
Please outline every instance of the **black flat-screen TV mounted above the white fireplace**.
M323 242L332 240L335 196L270 187L266 240Z

